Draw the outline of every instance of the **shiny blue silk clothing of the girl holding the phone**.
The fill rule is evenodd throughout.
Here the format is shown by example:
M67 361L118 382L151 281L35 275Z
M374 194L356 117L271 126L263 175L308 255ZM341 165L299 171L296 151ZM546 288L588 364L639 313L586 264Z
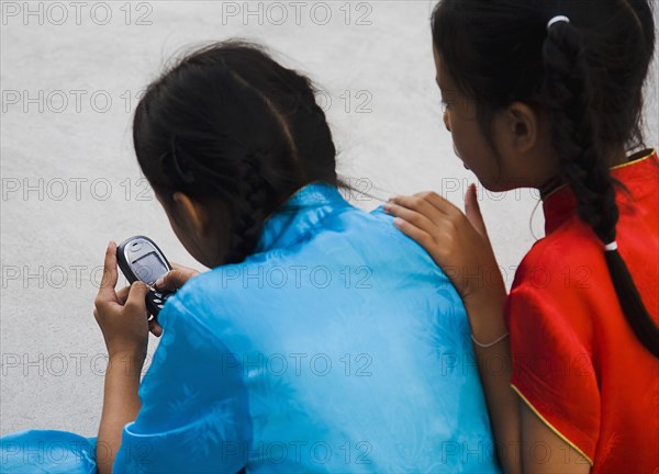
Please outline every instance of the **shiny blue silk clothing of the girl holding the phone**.
M500 472L459 295L391 216L332 185L295 193L253 256L189 280L159 321L116 473ZM2 438L3 472L71 436ZM94 472L79 438L66 472Z

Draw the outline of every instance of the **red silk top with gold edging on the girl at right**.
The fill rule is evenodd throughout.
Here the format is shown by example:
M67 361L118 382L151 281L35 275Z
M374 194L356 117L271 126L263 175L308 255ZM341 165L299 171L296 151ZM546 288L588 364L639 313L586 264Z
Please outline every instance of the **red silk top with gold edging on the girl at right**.
M659 158L641 156L611 171L632 194L616 191L616 241L657 324ZM515 274L505 308L512 386L592 473L659 473L659 359L627 324L603 245L574 205L568 187L545 200L546 237Z

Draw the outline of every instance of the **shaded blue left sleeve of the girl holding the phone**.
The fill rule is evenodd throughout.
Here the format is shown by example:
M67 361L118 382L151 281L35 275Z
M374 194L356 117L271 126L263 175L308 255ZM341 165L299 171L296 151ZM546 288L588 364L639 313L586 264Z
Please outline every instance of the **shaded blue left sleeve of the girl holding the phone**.
M123 427L113 473L237 472L246 464L252 419L239 359L206 324L206 309L188 308L181 293L158 316L163 339L139 386L139 413Z

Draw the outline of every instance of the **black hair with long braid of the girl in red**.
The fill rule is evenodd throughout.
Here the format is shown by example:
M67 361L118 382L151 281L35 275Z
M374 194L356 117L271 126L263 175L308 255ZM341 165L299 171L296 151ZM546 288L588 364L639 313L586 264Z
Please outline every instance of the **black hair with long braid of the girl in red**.
M570 22L548 21L562 14ZM579 217L606 244L619 212L606 154L643 144L643 86L655 52L646 0L443 0L433 13L443 64L494 149L494 112L514 101L539 105L551 123L562 180ZM659 329L617 250L605 259L625 317L659 357Z

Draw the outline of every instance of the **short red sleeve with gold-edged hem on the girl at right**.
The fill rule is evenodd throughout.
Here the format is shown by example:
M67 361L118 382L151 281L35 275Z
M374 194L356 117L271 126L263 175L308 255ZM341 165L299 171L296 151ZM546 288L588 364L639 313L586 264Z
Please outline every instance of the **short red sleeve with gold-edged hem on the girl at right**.
M580 223L567 224L537 241L517 269L505 307L511 384L546 425L590 461L600 432L593 365L597 307L610 283L596 237Z

